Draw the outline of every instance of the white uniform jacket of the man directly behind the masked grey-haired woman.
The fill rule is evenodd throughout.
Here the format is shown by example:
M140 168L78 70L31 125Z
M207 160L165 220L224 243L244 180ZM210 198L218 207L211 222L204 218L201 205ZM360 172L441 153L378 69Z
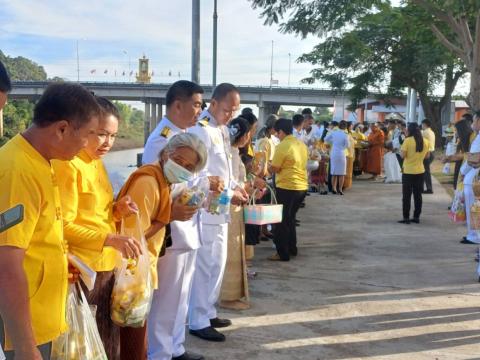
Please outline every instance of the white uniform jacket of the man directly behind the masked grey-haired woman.
M185 132L172 123L165 116L155 130L148 137L143 151L142 163L153 163L158 161L158 154L167 145L168 141L175 135ZM187 183L175 184L172 189L172 198L179 196L187 187ZM172 235L172 246L175 250L194 250L201 246L198 230L198 214L187 221L172 221L170 223Z

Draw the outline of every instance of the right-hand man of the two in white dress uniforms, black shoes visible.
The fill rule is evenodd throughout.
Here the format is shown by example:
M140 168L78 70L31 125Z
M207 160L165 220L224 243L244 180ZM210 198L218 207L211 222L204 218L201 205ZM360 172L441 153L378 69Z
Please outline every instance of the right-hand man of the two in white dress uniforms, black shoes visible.
M226 124L240 108L240 94L231 84L218 85L207 110L200 115L191 132L204 142L208 150L207 165L200 176L219 176L226 187L234 189L232 202L247 200L232 178L230 138ZM231 325L227 319L219 319L215 303L220 295L223 273L227 261L228 217L212 215L201 210L202 247L197 253L189 306L190 333L208 341L225 341L225 336L215 328Z

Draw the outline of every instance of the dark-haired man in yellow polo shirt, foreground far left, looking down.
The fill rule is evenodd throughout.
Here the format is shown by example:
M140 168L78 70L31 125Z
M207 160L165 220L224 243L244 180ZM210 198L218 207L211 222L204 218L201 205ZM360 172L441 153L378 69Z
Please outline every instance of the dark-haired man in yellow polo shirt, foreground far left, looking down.
M72 159L95 131L99 106L77 84L50 85L33 124L0 148L0 212L23 204L22 223L0 233L0 340L7 359L49 359L66 330L67 248L50 161ZM38 346L38 348L37 348Z

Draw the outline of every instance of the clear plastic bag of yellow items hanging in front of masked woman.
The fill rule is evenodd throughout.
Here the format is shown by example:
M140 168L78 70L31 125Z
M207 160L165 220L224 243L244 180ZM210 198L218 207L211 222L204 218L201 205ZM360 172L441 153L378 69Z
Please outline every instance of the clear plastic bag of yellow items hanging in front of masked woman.
M142 327L150 311L153 286L150 255L138 214L135 228L126 228L123 220L121 232L140 241L142 255L138 259L122 259L121 265L116 269L111 319L118 326Z

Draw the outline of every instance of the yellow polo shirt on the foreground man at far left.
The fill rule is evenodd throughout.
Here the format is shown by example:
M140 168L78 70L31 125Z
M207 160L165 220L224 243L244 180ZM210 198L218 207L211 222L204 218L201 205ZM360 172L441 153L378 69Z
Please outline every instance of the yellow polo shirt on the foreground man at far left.
M0 148L0 159L0 212L17 204L25 208L23 221L0 233L0 246L25 249L33 333L37 344L45 344L67 328L67 248L56 177L22 135ZM6 350L11 346L7 333Z

